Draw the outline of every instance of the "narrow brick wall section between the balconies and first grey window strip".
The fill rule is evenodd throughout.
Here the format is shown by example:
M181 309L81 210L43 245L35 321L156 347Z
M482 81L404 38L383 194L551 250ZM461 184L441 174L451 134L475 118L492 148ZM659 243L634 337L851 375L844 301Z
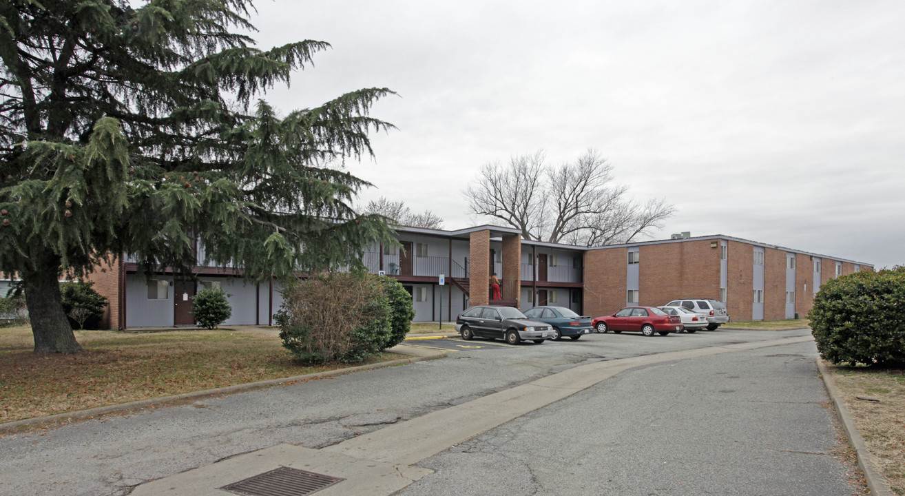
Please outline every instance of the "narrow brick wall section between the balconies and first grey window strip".
M582 291L585 315L609 315L625 306L626 263L625 248L585 253L585 291Z

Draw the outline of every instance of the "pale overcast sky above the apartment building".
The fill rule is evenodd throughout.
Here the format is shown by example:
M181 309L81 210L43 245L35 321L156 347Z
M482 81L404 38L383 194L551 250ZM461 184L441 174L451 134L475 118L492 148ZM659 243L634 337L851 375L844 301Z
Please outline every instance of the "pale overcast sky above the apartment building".
M676 205L653 239L726 234L905 264L905 2L870 0L256 3L262 48L332 48L290 111L367 87L376 158L363 192L470 218L482 165L600 150L639 201Z

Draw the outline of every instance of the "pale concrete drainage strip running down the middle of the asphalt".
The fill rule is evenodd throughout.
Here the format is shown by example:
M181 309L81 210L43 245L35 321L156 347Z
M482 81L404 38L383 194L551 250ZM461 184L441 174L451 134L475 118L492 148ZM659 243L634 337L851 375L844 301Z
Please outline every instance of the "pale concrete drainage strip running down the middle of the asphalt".
M318 491L319 495L388 495L431 473L427 469L413 466L414 463L521 415L574 395L624 370L811 340L809 336L771 339L597 361L392 424L320 450L280 444L142 484L132 494L224 496L229 493L218 488L285 466L343 479Z

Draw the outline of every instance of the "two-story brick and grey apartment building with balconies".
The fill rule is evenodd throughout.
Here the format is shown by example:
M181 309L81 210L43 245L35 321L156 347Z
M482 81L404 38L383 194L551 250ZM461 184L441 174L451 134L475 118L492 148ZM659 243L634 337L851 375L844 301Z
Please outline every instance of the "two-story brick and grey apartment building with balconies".
M402 227L397 238L399 246L373 245L363 262L368 272L403 283L421 321L454 320L471 305L490 303L493 272L502 286L502 300L493 302L521 310L549 304L597 316L630 304L714 298L727 303L733 320L792 319L806 315L824 281L872 269L721 234L592 248L526 241L516 229L491 225ZM280 309L278 281L247 281L230 266L198 266L194 275L184 281L161 271L148 278L120 257L91 279L110 300L105 323L115 329L193 325L191 299L204 286L231 295L226 325L272 324Z

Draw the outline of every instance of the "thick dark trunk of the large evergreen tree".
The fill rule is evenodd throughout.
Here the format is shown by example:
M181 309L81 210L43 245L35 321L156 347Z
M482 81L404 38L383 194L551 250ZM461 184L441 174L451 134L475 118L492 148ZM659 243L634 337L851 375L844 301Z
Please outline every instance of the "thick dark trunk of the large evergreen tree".
M75 340L69 320L62 310L59 264L43 267L35 272L22 273L25 304L32 320L35 353L78 353L81 346Z

